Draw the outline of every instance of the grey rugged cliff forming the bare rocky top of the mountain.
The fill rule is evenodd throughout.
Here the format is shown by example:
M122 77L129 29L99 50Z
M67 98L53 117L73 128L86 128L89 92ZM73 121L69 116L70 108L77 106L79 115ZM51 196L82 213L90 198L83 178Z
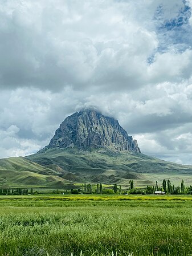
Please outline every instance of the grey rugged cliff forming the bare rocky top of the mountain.
M137 140L128 136L119 122L93 109L85 109L68 116L56 130L48 148L79 149L111 148L117 151L141 152Z

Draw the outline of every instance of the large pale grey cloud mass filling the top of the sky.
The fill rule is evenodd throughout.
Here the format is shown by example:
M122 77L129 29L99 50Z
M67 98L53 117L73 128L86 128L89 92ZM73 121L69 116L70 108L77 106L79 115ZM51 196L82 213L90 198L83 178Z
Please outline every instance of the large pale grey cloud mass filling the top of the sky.
M152 9L161 5L157 2L138 1L140 8ZM173 3L164 5L165 10L173 7ZM148 23L138 22L138 10L126 1L3 2L0 86L36 86L52 91L63 86L75 90L143 86L153 76L147 60L158 47L157 33L148 26L154 13L145 14L149 15ZM168 56L156 58L157 64L151 68L154 76ZM182 68L185 65L178 62L175 72ZM173 76L175 72L168 73Z

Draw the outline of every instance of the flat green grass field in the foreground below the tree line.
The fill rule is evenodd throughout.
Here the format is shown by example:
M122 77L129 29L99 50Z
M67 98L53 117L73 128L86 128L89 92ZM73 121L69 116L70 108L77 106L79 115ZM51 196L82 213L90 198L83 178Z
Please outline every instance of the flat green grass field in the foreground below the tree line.
M0 255L192 255L192 196L1 196Z

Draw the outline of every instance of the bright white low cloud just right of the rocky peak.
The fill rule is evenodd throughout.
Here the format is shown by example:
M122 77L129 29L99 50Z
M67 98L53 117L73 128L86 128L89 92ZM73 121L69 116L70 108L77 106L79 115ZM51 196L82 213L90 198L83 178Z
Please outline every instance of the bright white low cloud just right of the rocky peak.
M165 129L158 133L145 133L134 135L142 151L146 155L158 157L166 161L191 165L191 137L189 132L191 124Z

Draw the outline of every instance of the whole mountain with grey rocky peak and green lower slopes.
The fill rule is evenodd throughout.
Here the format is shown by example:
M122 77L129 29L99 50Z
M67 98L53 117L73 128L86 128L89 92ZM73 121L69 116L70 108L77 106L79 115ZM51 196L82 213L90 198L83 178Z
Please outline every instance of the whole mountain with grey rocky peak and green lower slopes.
M141 153L112 117L85 109L68 116L50 143L27 157L0 159L0 187L75 188L84 182L138 187L170 179L192 184L192 166Z

